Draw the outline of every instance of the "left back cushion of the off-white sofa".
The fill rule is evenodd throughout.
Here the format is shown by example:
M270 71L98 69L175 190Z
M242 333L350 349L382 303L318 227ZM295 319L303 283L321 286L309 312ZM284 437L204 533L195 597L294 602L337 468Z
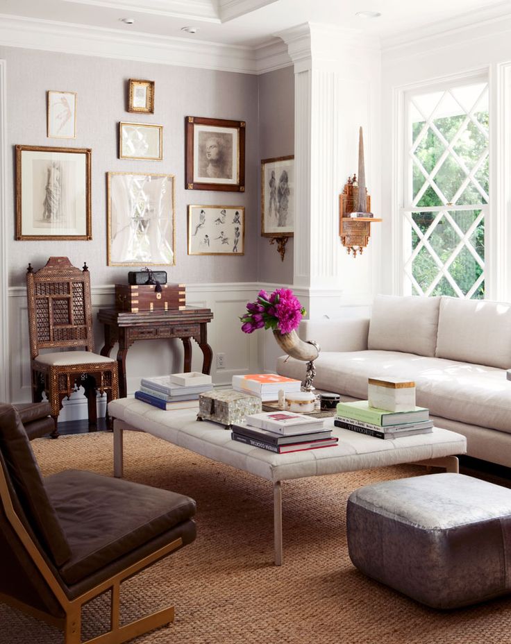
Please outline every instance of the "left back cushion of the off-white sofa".
M435 355L440 298L378 295L369 323L367 347Z

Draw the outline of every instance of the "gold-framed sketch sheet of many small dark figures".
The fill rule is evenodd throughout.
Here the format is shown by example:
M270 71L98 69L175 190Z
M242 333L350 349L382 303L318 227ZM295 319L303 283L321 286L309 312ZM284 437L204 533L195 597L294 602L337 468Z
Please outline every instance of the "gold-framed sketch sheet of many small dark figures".
M244 255L244 252L244 206L188 206L188 255Z

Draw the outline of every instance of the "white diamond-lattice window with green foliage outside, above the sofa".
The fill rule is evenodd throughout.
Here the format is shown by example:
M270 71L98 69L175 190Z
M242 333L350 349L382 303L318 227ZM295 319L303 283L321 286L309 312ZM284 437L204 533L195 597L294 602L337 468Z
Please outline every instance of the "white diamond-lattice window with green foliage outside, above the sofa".
M405 95L405 292L485 296L488 85Z

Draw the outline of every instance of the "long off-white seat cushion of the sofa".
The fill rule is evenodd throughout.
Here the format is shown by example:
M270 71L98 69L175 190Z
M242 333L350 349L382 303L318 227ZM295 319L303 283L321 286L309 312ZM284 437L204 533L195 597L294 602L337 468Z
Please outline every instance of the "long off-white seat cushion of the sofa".
M432 416L511 434L511 382L503 369L394 351L328 352L315 366L317 389L365 400L368 378L407 378L415 382L417 405ZM305 364L279 358L277 373L303 378Z

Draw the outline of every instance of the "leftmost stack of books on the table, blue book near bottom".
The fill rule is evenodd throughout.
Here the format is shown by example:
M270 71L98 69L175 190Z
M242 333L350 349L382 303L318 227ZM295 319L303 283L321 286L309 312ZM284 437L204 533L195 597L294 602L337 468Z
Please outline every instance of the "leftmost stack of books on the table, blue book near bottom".
M142 378L135 398L160 409L186 409L196 407L199 393L213 388L210 375L191 371L171 375Z

